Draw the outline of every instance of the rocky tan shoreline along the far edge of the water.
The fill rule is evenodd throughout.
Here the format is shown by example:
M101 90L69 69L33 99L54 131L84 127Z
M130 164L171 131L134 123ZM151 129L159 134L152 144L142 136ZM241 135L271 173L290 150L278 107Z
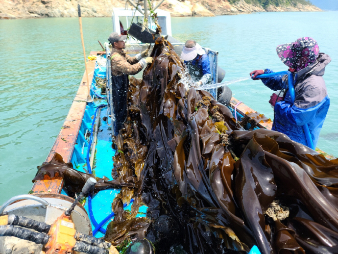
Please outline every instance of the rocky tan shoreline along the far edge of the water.
M0 19L110 17L125 0L0 0ZM130 8L130 5L129 5ZM264 11L321 11L306 0L165 0L161 9L172 16L236 15Z

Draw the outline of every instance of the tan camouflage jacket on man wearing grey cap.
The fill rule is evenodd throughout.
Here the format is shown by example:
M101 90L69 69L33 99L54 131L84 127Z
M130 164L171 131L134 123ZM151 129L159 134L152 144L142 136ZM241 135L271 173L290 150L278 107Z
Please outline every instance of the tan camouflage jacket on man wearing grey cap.
M113 76L135 75L142 70L139 60L135 56L127 55L124 50L113 48L110 55Z

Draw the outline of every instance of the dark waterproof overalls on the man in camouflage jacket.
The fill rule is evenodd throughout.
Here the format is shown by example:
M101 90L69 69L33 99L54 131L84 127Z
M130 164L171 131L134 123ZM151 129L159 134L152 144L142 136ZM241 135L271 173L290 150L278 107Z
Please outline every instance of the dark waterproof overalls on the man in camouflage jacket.
M121 76L112 75L112 98L114 107L114 135L119 134L123 123L127 120L127 95L128 95L129 79L128 75Z

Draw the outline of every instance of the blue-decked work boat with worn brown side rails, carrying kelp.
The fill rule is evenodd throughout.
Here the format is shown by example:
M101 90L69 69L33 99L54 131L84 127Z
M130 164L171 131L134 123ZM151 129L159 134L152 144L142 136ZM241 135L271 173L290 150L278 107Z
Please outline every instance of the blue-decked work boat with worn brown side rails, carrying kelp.
M132 3L135 5L134 2ZM142 9L141 6L136 7ZM130 26L128 22L133 17L137 17L136 22L139 20L138 17L143 19L144 10L137 11L136 7L134 6L133 10L114 8L112 15L114 31L123 32L124 27ZM158 10L158 18L160 18L159 23L161 20L163 27L165 27L162 29L165 31L164 35L171 36L169 13ZM151 19L148 28L154 28ZM183 43L172 43L172 46L176 54L180 55ZM134 38L128 41L126 51L128 54L135 55L147 47L149 47L148 44ZM150 49L152 50L153 47L152 45ZM218 52L204 49L211 60L212 82L217 83ZM107 225L115 215L111 205L121 191L121 188L116 187L111 174L112 168L114 168L112 157L121 151L112 142L114 109L111 105L114 98L111 98L109 94L112 85L109 45L105 44L104 51L90 52L88 59L87 74L85 73L80 81L63 127L46 161L39 168L29 195L13 197L0 207L0 215L4 215L0 218L8 215L6 217L8 224L9 218L14 218L14 215L17 216L15 218L18 221L22 218L20 216L31 219L30 224L20 224L19 222L13 224L14 219L11 223L35 229L41 233L38 236L43 239L37 244L37 240L36 238L33 240L33 236L29 236L30 238L26 236L24 239L9 235L2 236L0 237L0 253L71 254L75 250L71 248L74 245L72 245L73 242L67 241L75 238L76 244L78 244L76 251L81 253L108 253L108 248L111 248L101 238L105 235ZM140 78L140 75L142 72L134 77ZM90 94L87 89L87 78L91 84ZM209 92L214 98L217 98L216 89ZM88 101L88 96L92 98L91 101ZM241 126L246 130L271 129L272 127L270 119L233 97L226 106L231 110L236 122L241 123ZM327 156L332 159L329 155ZM67 169L65 165L68 165ZM72 170L69 167L72 167ZM93 185L91 181L95 181L93 176L99 178L98 183L100 184L100 190L97 190L95 194L88 187L90 184ZM87 189L83 187L86 190L81 190L78 186L87 186ZM83 198L85 193L89 193L87 198ZM131 211L132 204L133 200L128 200L123 204L123 209ZM72 207L71 211L69 211L70 207ZM135 217L145 217L146 212L147 206L141 205ZM7 221L0 220L2 223L0 225L7 225ZM41 225L37 222L41 222ZM48 225L52 225L51 228L55 229L49 234L49 239L52 236L56 237L53 238L55 240L53 243L50 243L49 240L48 243L44 242L47 239L47 233L51 230ZM41 229L41 227L45 228ZM56 243L61 245L56 245ZM80 244L85 247L81 249L78 247ZM121 248L111 248L109 253L119 253L116 251L121 251ZM249 253L258 254L260 251L254 246Z

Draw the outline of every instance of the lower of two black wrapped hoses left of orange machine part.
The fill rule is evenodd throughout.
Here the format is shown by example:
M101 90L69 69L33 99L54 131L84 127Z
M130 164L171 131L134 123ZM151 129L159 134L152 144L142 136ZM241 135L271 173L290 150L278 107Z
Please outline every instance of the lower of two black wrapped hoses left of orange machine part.
M0 236L14 236L43 245L47 244L49 240L49 236L47 234L34 232L29 229L14 227L13 225L0 226Z

